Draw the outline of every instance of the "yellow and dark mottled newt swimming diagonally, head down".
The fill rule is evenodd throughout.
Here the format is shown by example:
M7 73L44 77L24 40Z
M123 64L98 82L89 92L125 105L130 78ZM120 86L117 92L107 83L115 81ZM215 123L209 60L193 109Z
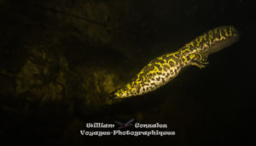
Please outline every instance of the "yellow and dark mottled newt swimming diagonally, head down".
M208 55L229 47L238 38L238 31L234 26L220 26L207 31L176 52L152 59L137 76L110 95L114 98L129 98L152 92L171 81L185 66L204 68L208 64Z

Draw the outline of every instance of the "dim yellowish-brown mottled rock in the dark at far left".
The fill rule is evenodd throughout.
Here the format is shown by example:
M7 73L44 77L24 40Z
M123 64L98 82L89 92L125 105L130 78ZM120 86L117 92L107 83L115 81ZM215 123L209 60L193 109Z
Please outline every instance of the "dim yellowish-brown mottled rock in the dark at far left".
M15 94L31 94L43 100L63 98L67 88L67 60L44 48L31 48L28 57L15 77Z

